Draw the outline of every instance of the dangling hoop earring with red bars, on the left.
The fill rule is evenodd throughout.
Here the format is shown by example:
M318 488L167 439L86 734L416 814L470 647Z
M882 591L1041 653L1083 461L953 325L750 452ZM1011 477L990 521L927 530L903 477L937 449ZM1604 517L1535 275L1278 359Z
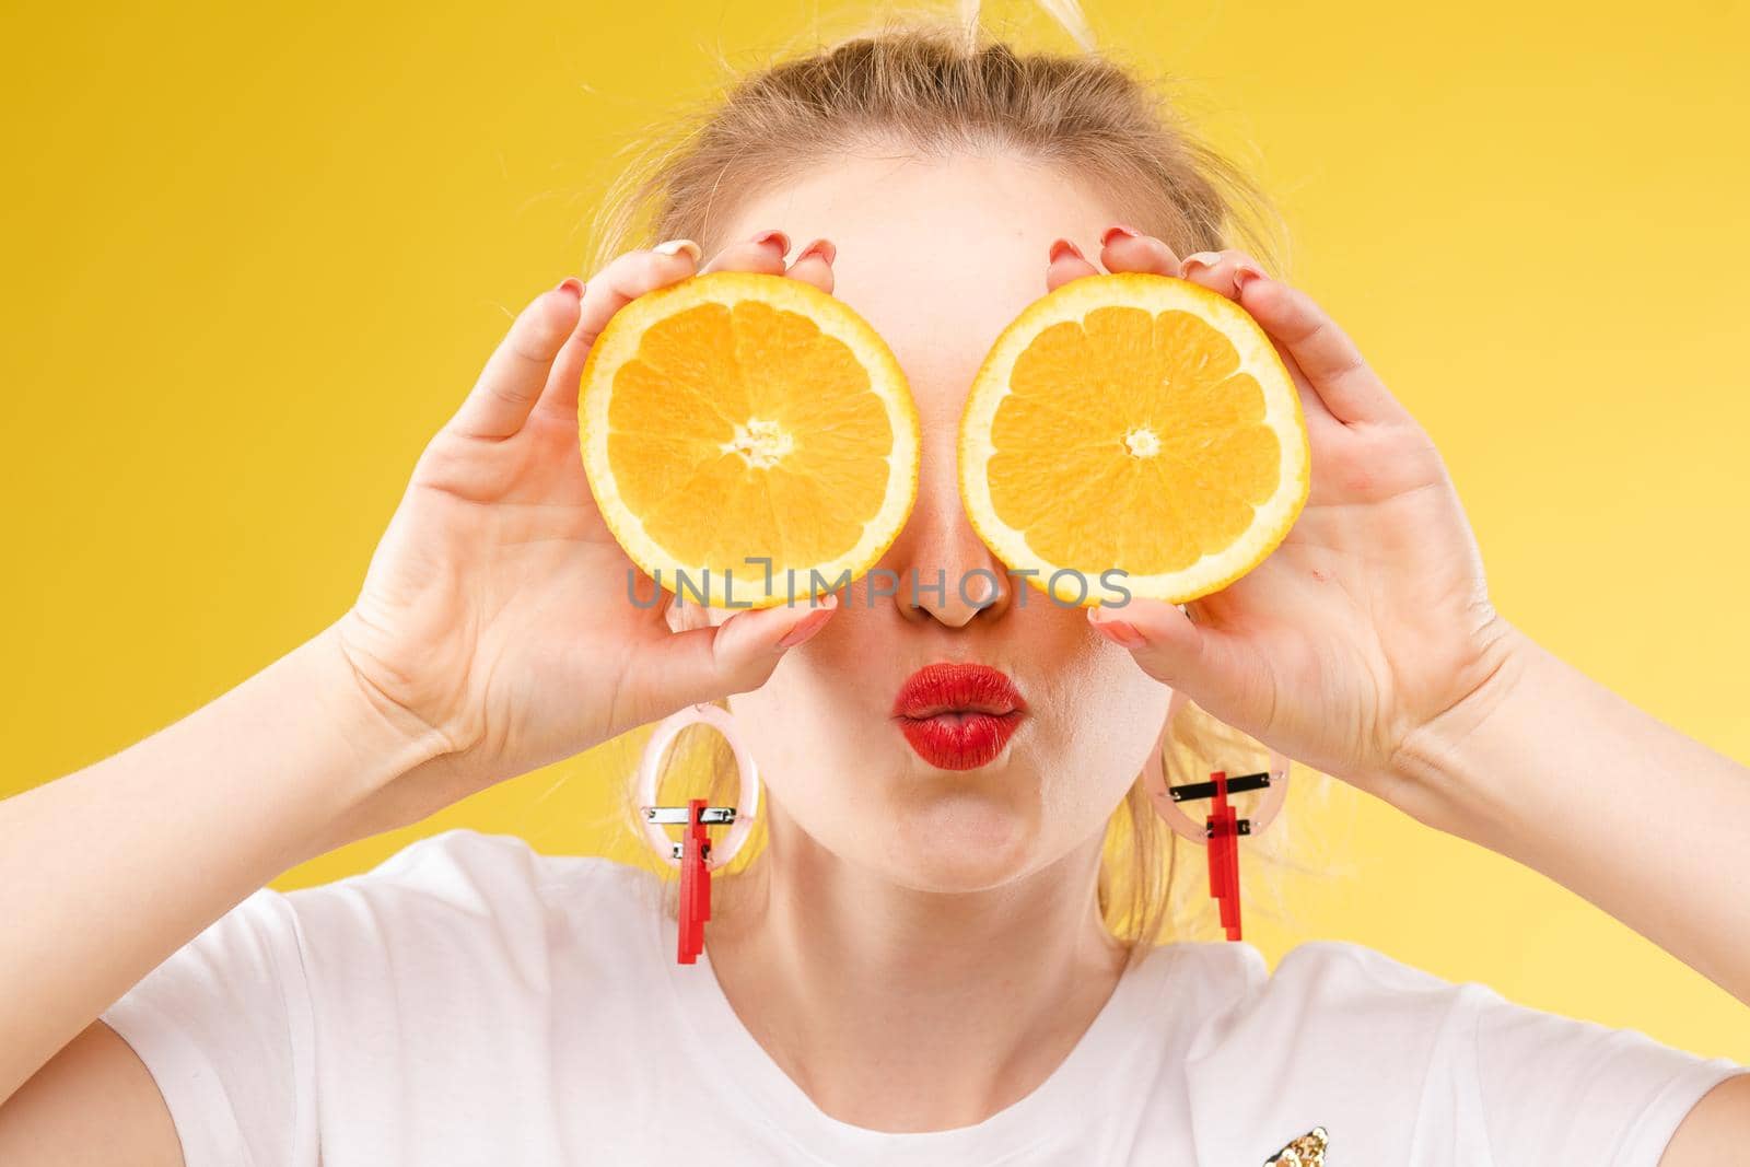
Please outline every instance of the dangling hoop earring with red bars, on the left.
M737 807L707 807L704 798L688 800L686 807L656 807L656 779L662 775L662 758L681 735L681 730L705 723L724 737L735 752L735 770L740 773ZM735 717L718 705L688 705L656 724L644 758L639 761L639 808L644 812L644 836L668 866L681 868L681 933L676 959L696 964L705 947L705 920L710 919L710 873L724 868L747 842L754 817L760 814L760 770L735 728ZM665 822L679 822L686 829L681 842L668 838ZM728 826L721 845L714 845L707 826Z

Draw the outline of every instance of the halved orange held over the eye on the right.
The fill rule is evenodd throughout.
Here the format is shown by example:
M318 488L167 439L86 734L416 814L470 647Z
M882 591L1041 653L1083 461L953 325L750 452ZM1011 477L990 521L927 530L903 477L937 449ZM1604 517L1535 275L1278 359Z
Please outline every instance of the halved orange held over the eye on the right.
M1225 588L1288 535L1311 462L1300 394L1258 322L1160 275L1083 276L1029 304L961 415L973 528L1064 604Z

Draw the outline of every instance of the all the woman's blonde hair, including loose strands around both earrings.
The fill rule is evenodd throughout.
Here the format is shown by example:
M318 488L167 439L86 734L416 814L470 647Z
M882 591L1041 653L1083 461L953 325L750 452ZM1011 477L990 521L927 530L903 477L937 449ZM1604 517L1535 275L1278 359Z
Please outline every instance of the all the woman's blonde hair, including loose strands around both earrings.
M733 79L726 93L640 136L644 152L611 187L595 224L593 262L584 269L668 238L695 240L710 254L724 241L719 226L735 199L774 189L796 166L835 152L900 143L928 156L1001 147L1054 163L1097 184L1125 222L1180 255L1239 247L1281 271L1286 229L1270 199L1199 140L1150 84L1096 51L1074 0L1040 0L1040 7L1074 38L1078 52L1020 52L992 40L978 2L961 0L957 19L889 16ZM1213 768L1262 770L1264 759L1256 742L1195 705L1176 719L1166 751L1178 782L1206 779ZM709 728L688 730L663 773L667 789L684 791L665 801L700 794L712 805L735 800L733 756ZM1236 800L1242 815L1251 798ZM1304 870L1286 859L1286 835L1283 814L1269 833L1248 840L1246 854ZM761 822L728 875L744 870L763 843ZM1141 782L1132 784L1108 821L1099 873L1102 920L1130 947L1132 959L1162 936L1186 936L1213 919L1206 880L1195 878L1200 863L1186 887L1174 887L1180 845L1150 808ZM1270 891L1272 906L1264 913L1281 915L1281 887L1272 884Z

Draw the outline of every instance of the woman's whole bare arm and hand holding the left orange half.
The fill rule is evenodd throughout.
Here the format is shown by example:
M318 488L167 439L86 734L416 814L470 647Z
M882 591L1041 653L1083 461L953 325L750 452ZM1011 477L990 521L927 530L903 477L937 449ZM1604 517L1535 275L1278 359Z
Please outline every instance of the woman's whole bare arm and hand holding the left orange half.
M536 297L425 448L340 621L0 803L0 1162L178 1164L150 1074L96 1020L159 962L310 857L752 689L793 647L803 604L679 633L665 604L630 604L635 569L578 453L593 338L696 261L630 252ZM712 266L831 290L824 257L786 268L763 243Z

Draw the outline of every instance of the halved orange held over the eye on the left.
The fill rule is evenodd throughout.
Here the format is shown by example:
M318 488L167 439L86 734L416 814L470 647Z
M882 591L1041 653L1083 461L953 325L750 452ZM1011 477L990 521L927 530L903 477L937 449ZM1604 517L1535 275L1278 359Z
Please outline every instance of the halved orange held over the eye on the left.
M772 607L870 570L917 497L917 408L844 301L714 271L632 299L583 367L583 467L682 600Z

